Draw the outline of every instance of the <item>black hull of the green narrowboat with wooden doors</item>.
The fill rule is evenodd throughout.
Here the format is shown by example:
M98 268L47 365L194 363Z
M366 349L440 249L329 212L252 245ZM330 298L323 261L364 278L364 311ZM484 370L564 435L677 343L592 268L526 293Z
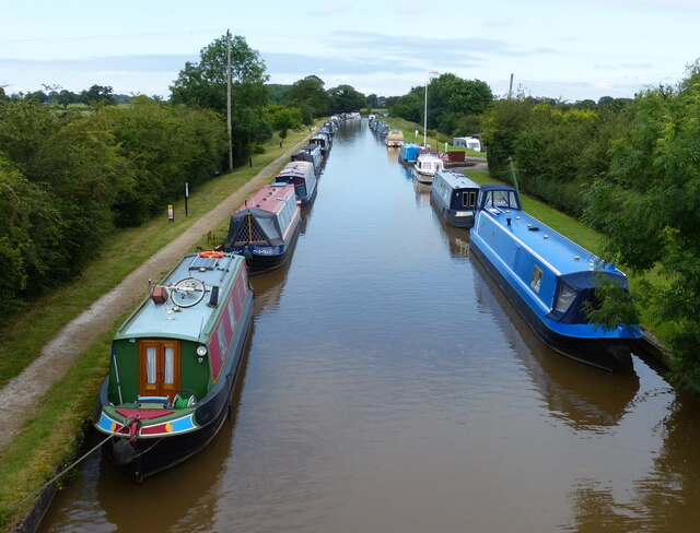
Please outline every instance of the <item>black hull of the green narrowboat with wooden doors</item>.
M103 454L120 470L133 476L138 482L170 469L201 451L217 436L230 414L231 401L243 352L247 344L253 323L253 293L248 293L242 323L245 324L231 344L226 358L226 367L213 390L207 394L196 408L194 421L197 428L179 435L156 438L129 439L114 436L103 447ZM108 405L108 378L100 393L97 416L102 416L102 407ZM95 419L95 425L98 421Z

